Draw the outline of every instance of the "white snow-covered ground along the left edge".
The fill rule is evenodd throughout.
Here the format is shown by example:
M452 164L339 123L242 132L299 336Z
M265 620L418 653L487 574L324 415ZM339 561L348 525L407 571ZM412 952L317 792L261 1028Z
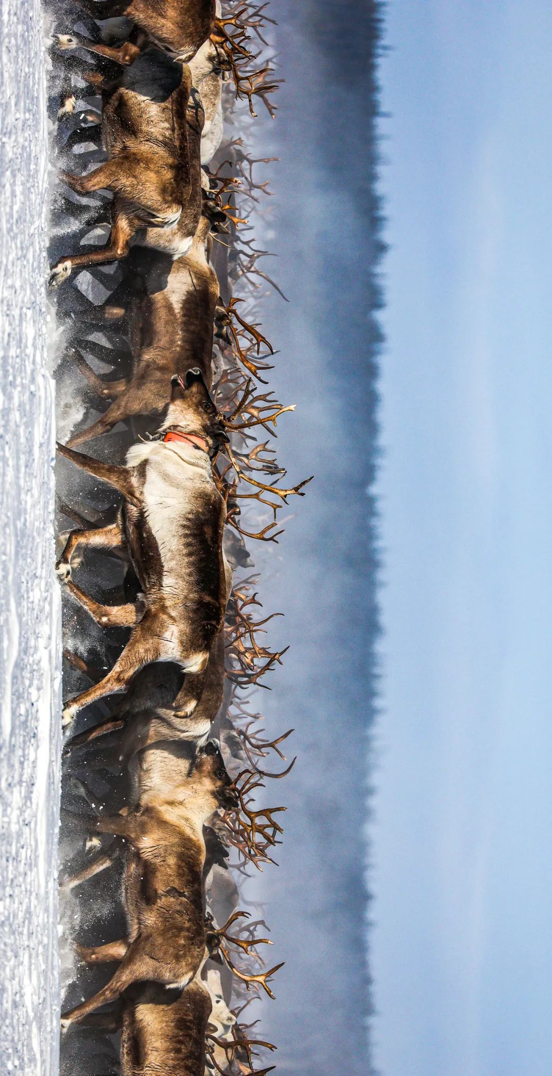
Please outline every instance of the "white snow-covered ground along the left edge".
M0 2L0 1068L58 1071L60 613L39 0Z

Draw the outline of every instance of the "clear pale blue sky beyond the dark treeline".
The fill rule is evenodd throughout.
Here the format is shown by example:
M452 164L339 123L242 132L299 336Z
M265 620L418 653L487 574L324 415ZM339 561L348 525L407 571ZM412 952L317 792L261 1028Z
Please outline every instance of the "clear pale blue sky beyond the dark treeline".
M376 1063L549 1076L552 9L387 23Z

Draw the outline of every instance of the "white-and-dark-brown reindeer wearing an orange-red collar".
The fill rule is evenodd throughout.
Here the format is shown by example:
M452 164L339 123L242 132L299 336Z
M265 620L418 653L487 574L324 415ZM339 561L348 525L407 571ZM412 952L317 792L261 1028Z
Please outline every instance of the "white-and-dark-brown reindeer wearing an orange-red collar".
M64 707L66 724L82 707L125 691L132 675L154 662L176 662L185 672L198 674L198 694L189 702L190 713L201 698L231 585L222 550L226 506L209 459L220 443L228 441L228 435L201 370L188 370L186 380L172 379L160 438L134 444L122 467L58 447L62 456L124 496L115 523L70 534L58 574L99 624L133 628L111 672ZM105 606L88 597L70 578L71 558L81 546L127 552L143 598Z

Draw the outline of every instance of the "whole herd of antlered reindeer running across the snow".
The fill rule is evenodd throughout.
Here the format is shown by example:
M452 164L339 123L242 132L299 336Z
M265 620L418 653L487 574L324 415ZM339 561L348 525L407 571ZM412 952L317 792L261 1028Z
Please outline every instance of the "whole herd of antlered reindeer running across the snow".
M306 484L284 484L271 448L293 408L266 388L253 321L278 291L250 223L268 158L247 148L256 108L275 112L272 19L253 0L68 0L49 17L61 1067L262 1076L275 1047L243 1013L281 965L238 887L274 862L284 807L257 795L293 762L256 708L284 651L246 542L275 541Z

